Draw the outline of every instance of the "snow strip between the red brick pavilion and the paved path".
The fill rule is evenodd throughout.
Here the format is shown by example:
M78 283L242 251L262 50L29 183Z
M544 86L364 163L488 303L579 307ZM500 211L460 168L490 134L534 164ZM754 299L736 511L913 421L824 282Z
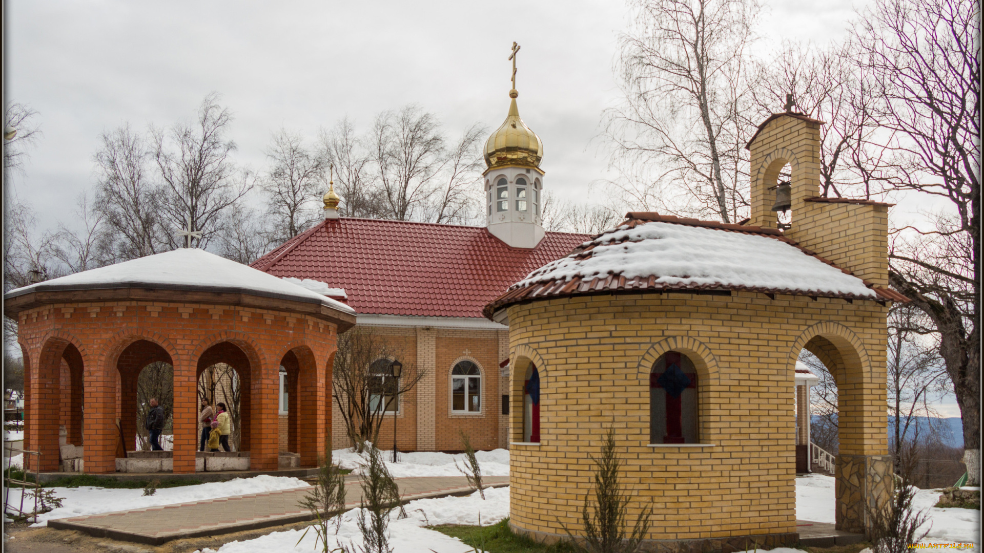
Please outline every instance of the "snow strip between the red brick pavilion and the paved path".
M144 496L143 489L98 488L92 486L48 488L54 490L55 497L64 498L62 507L39 515L37 522L31 525L46 526L51 519L66 519L69 517L81 517L83 515L95 515L97 513L143 509L159 505L302 488L305 486L310 486L310 484L298 478L260 475L252 478L234 478L226 482L208 482L194 486L160 488L152 496ZM21 490L11 488L10 503L19 503L20 501Z

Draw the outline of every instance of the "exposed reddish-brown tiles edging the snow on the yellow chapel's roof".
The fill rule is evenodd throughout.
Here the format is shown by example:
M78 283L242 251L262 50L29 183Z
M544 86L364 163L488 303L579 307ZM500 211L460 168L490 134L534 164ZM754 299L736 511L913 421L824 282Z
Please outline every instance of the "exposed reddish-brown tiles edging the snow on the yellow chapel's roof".
M830 260L824 259L823 257L817 255L802 246L800 246L795 240L792 240L782 234L782 231L777 228L760 227L760 226L745 226L740 224L729 224L716 221L700 220L696 218L686 218L678 217L675 215L659 215L655 212L629 212L626 214L627 220L618 225L618 228L634 228L639 224L645 224L646 222L670 222L675 224L683 224L687 226L696 226L704 228L712 228L716 230L723 230L727 232L738 232L742 234L753 234L759 236L766 236L785 242L790 246L793 246L803 253L813 256L823 263L830 265L844 274L852 275L849 271L841 269L834 265ZM592 236L592 240L602 236L602 234L597 234ZM588 245L587 247L578 247L574 252L570 254L571 257L581 257L590 252L594 248L594 245ZM881 286L874 286L871 282L867 280L862 280L864 284L871 288L873 292L878 296L880 302L886 300L898 301L898 302L908 302L909 299L904 295L892 290L891 288L885 288ZM483 314L492 319L493 314L513 303L520 303L530 300L543 299L545 297L557 297L557 296L574 296L574 295L585 295L585 294L596 294L596 293L613 293L613 292L624 292L624 291L718 291L718 290L749 290L749 291L759 291L766 294L803 294L800 290L791 289L775 289L775 288L759 288L759 287L749 287L742 285L720 285L720 284L693 284L693 283L678 283L669 284L663 282L657 282L656 276L639 276L626 278L619 274L609 274L607 276L595 276L590 279L584 279L580 276L575 276L570 280L549 280L545 282L531 282L522 286L516 286L506 293L497 297L494 301L490 302L485 306ZM813 297L827 296L827 297L837 297L843 298L848 301L853 301L854 299L871 299L862 296L857 296L850 293L818 293L810 292L808 294Z

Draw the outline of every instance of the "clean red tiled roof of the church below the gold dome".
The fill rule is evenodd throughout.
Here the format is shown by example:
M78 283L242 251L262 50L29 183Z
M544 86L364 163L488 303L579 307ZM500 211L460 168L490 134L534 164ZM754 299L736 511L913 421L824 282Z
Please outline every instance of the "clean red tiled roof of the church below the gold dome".
M338 218L291 238L253 267L344 288L358 314L477 318L511 284L589 238L547 232L527 250L484 227Z

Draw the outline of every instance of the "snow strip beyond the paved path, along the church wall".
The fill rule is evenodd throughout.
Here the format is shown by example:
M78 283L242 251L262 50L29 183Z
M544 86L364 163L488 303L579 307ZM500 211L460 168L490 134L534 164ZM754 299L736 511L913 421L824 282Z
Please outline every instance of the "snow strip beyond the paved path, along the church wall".
M400 462L394 463L393 452L382 452L386 467L395 478L404 476L461 476L455 461L464 468L464 454L449 455L439 452L415 452L399 454ZM352 448L335 450L332 461L341 468L351 468L353 474L361 474L361 467L367 462L368 454L356 454ZM509 476L509 450L475 452L475 459L482 469L483 476Z

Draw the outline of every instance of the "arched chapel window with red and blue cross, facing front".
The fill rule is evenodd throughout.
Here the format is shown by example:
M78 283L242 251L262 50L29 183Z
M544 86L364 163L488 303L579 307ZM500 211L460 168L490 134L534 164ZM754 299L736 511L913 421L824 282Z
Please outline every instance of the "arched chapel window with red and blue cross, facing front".
M667 351L649 373L649 443L696 444L697 370L689 357Z

